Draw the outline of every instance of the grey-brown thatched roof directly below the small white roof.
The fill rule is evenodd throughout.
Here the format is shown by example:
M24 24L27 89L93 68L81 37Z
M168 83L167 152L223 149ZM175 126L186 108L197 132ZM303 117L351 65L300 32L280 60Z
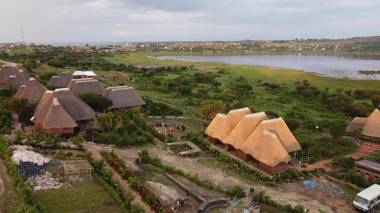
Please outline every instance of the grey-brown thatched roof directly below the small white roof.
M70 91L76 95L80 96L85 93L95 93L103 95L105 89L103 85L94 79L72 79L68 85Z

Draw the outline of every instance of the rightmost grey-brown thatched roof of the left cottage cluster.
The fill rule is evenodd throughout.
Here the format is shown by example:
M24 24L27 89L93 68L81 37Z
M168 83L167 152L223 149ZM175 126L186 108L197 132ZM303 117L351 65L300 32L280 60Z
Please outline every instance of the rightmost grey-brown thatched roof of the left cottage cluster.
M104 96L113 102L110 109L131 108L145 105L145 101L133 87L108 87Z

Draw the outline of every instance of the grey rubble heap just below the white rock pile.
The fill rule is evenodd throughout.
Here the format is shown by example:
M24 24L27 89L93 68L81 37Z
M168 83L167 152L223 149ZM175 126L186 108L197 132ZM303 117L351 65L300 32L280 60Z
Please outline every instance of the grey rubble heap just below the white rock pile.
M54 178L50 172L30 177L28 181L32 184L34 191L59 189L65 186L58 178Z

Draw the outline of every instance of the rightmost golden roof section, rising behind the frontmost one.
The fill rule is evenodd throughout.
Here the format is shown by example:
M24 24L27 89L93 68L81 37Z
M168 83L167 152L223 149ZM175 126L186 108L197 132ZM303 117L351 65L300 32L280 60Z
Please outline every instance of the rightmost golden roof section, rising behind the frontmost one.
M256 131L263 132L264 130L271 130L272 132L275 132L289 153L301 150L300 144L294 137L293 133L289 130L284 119L277 118L262 121L253 133Z

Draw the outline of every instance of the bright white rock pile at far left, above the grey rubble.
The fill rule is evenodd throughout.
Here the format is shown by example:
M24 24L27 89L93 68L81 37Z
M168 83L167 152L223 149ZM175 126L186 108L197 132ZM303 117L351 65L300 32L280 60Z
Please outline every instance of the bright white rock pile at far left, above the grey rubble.
M16 145L12 146L12 149L14 150L12 155L12 161L17 165L20 165L20 162L31 162L39 166L42 166L46 163L49 163L50 161L43 155L31 151L32 148L29 146Z

